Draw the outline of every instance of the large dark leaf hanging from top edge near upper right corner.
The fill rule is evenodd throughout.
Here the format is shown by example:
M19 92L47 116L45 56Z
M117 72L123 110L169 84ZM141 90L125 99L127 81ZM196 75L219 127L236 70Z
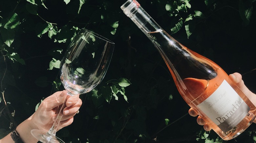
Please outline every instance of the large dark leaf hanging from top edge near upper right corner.
M243 26L247 26L250 23L250 18L252 15L252 3L250 1L239 1L239 13L243 20Z

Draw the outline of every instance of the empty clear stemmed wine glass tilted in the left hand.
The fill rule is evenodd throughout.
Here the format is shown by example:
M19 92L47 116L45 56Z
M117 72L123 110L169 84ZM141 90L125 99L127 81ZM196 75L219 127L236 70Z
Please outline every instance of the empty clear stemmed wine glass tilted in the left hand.
M92 31L84 28L79 31L70 43L60 66L60 79L69 95L87 93L102 81L114 46L115 43ZM48 132L33 129L31 134L43 143L65 143L55 136L65 106L64 102Z

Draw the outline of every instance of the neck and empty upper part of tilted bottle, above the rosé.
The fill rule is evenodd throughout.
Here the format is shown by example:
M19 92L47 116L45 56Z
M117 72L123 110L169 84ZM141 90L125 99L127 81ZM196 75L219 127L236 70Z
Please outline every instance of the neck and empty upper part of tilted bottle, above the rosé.
M216 69L206 58L172 38L140 7L136 0L128 0L121 9L155 45L173 78L180 81L188 77L205 80L216 77ZM188 69L191 72L187 72Z

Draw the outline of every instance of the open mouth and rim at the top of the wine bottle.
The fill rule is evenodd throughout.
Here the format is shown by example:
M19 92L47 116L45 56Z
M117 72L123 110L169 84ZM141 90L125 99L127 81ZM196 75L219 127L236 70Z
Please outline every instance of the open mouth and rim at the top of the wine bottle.
M140 4L136 0L126 1L120 8L123 10L124 14L130 17L130 15L135 14Z

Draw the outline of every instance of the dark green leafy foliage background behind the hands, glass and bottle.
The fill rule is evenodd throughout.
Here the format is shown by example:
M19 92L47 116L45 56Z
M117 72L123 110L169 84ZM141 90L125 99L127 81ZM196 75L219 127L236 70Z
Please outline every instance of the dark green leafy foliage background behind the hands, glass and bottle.
M243 74L256 93L255 0L139 0L176 40ZM111 100L92 93L72 125L57 135L72 143L255 142L255 124L223 141L204 132L178 93L160 54L120 6L125 0L0 0L0 136L33 114L57 90L58 60L75 33L87 28L116 43L109 70L96 87L119 87ZM62 52L61 52L62 51ZM55 60L53 60L53 58ZM55 66L55 67L54 67ZM115 81L115 82L108 82ZM118 97L118 99L117 99Z

